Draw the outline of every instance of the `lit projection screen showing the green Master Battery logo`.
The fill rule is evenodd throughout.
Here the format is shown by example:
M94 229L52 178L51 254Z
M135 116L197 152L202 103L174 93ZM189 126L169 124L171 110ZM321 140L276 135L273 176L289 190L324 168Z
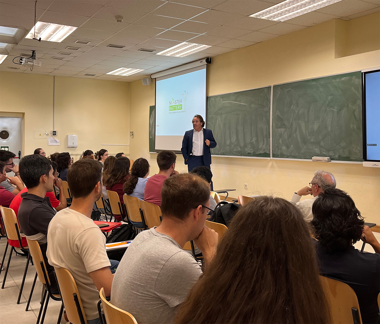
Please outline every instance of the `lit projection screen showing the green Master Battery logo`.
M155 149L180 151L196 114L206 120L206 68L157 80Z

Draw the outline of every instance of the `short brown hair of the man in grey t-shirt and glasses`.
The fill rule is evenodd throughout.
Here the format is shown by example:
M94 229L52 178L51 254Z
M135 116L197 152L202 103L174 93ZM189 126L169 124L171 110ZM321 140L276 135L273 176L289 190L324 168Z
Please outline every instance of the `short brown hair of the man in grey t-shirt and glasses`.
M199 176L183 173L165 179L161 190L162 217L185 220L189 212L210 199L210 186Z

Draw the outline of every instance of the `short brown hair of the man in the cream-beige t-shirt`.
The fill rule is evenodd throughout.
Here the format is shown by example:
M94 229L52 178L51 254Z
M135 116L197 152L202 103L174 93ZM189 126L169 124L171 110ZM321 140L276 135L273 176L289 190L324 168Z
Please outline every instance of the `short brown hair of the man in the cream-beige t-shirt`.
M67 171L67 183L73 198L87 197L101 181L103 165L93 159L80 159Z

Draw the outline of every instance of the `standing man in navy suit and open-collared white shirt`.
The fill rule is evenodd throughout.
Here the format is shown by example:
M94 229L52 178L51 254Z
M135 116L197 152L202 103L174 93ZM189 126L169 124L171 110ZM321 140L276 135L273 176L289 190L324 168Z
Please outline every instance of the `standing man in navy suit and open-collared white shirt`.
M195 167L205 165L210 168L211 152L210 148L216 146L214 135L211 129L204 127L204 120L201 115L195 115L193 118L193 129L186 131L182 140L182 156L190 172Z

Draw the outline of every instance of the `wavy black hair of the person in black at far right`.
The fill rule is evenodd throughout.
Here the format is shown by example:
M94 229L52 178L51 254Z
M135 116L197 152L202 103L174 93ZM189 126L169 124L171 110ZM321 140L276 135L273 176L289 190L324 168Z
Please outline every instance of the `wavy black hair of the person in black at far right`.
M345 251L359 241L364 220L343 190L329 188L320 193L312 211L315 238L326 252Z

